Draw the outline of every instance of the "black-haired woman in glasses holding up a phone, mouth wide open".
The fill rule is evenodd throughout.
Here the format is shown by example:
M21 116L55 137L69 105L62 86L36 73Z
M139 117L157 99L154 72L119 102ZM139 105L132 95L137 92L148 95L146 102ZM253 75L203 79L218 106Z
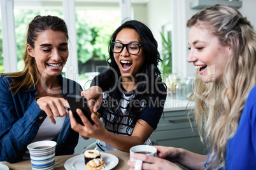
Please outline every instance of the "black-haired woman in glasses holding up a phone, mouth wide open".
M145 24L136 20L123 23L111 36L110 68L96 76L91 89L103 91L103 102L92 114L94 125L77 110L84 126L73 115L71 128L84 138L97 139L97 150L129 152L134 145L151 145L166 100L166 85L157 65L157 41ZM87 96L85 91L83 96Z

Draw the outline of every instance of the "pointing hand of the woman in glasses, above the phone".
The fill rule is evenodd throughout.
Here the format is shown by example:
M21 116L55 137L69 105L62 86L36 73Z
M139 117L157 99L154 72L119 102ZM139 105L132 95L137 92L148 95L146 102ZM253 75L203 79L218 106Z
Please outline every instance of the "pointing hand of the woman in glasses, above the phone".
M93 107L94 112L97 112L97 108L99 108L103 100L103 90L99 86L92 86L82 91L81 96L84 96L88 101L88 105Z

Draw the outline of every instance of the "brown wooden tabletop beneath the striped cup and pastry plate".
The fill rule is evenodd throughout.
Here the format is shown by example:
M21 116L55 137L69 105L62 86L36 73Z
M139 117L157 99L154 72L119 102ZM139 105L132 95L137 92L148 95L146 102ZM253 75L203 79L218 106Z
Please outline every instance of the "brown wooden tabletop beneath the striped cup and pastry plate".
M112 150L107 151L108 154L113 154L116 157L118 157L119 162L116 167L113 168L113 170L125 170L129 169L129 166L127 166L127 160L129 160L129 153L122 152L120 150ZM68 160L71 157L74 157L75 155L63 155L63 156L56 156L55 157L55 170L64 170L64 163L66 160ZM31 162L30 160L22 160L20 162L10 164L8 162L0 162L0 164L5 164L10 168L10 170L27 170L31 169ZM83 170L83 169L82 169Z

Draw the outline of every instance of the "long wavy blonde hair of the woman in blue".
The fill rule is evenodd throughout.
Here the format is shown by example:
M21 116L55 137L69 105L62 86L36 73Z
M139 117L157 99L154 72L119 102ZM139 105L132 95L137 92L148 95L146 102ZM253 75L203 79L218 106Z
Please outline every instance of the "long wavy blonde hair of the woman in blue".
M210 148L207 168L225 169L227 143L238 129L246 98L256 82L256 34L236 8L219 4L196 13L187 22L187 27L197 25L207 27L222 45L232 49L223 81L206 84L196 77L193 96L197 128Z

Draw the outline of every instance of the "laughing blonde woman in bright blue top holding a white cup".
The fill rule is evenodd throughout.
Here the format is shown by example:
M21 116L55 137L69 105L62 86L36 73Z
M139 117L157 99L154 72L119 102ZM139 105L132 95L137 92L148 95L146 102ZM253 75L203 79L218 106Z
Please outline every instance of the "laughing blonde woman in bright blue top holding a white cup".
M215 5L196 13L187 61L198 69L194 117L210 154L155 146L159 157L134 154L142 169L256 169L256 34L236 8ZM131 169L134 162L128 161Z

